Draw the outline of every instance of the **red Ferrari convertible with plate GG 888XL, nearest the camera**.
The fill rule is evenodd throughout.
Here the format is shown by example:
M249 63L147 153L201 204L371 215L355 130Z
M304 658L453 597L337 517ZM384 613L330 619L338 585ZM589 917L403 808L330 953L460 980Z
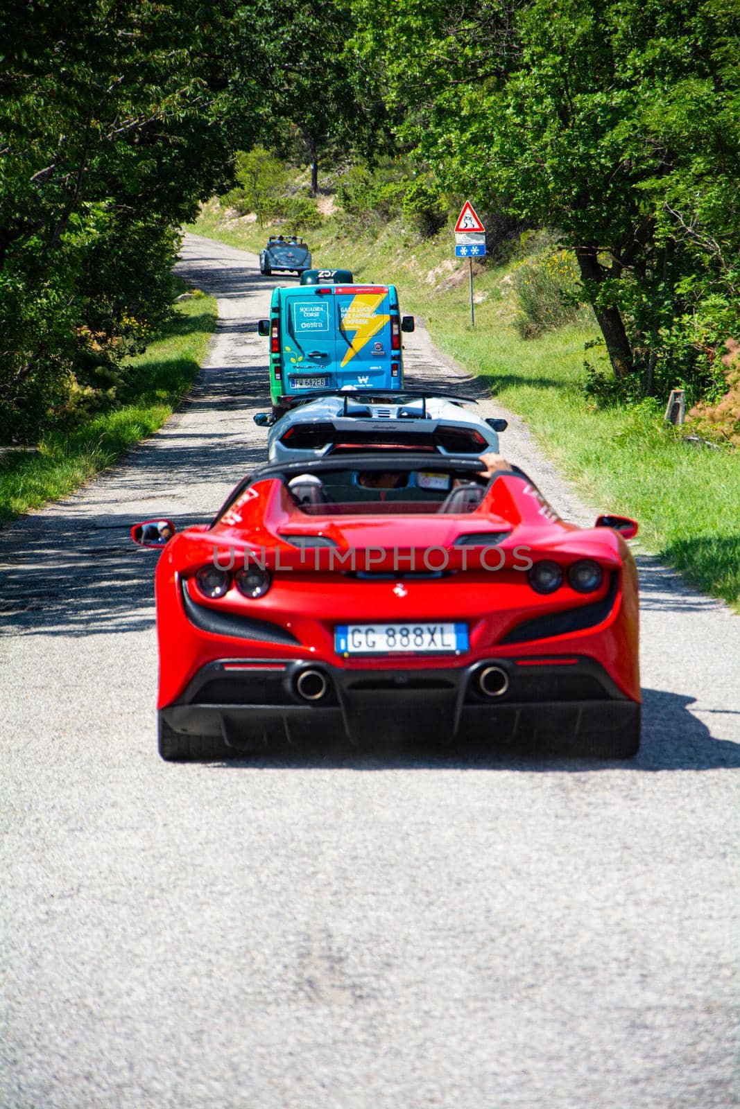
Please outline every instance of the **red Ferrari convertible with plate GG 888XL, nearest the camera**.
M163 759L316 733L638 750L632 520L568 523L516 467L375 452L263 466L173 531L132 529L162 547Z

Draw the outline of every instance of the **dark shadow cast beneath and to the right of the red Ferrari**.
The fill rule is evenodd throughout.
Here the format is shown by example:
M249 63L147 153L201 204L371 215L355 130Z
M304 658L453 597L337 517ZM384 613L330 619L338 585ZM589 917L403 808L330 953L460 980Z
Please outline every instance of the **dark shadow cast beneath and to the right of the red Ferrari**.
M249 757L214 764L214 769L251 767L262 770L490 770L526 773L592 773L596 771L704 771L740 767L740 743L712 737L709 729L693 715L695 698L665 690L643 690L642 743L639 753L628 760L559 757L521 746L491 743L466 743L455 740L433 747L428 742L399 745L378 736L372 747L362 751L346 740L323 735L301 746L275 742ZM740 713L738 713L740 729Z

